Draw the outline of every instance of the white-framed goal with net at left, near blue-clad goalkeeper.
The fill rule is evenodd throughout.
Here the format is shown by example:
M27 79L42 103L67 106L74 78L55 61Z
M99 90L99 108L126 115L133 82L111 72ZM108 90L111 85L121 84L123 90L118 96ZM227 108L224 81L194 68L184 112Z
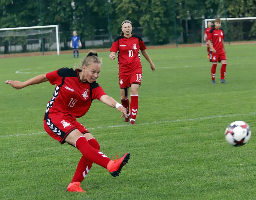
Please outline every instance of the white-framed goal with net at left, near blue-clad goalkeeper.
M0 29L0 54L60 54L58 25Z

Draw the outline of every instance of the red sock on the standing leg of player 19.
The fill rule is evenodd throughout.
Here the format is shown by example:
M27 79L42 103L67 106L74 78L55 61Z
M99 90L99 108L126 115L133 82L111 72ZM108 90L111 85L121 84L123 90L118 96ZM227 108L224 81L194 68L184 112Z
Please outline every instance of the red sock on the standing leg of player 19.
M100 145L95 138L89 139L88 143L95 149L100 150ZM84 156L78 162L75 174L71 182L82 182L91 169L92 162L88 161Z

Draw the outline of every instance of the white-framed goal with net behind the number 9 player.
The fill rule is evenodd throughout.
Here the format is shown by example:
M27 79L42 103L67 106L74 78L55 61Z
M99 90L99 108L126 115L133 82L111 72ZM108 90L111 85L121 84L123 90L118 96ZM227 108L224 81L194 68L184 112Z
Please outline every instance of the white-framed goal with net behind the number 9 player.
M211 21L214 24L214 20L204 19L202 21L202 45L205 45L204 31L207 23ZM221 18L221 28L225 34L224 42L256 41L256 17Z

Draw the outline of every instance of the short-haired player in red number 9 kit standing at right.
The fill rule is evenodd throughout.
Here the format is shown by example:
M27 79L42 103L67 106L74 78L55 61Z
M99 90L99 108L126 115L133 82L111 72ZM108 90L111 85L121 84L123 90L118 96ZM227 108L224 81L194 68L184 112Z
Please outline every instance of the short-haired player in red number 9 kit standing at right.
M215 28L212 28L208 34L208 44L211 48L210 51L210 62L212 62L212 83L215 84L215 75L216 75L216 67L217 62L221 62L221 78L220 83L226 83L226 66L227 66L227 58L226 51L223 44L224 39L224 31L221 29L221 19L216 18L214 21Z

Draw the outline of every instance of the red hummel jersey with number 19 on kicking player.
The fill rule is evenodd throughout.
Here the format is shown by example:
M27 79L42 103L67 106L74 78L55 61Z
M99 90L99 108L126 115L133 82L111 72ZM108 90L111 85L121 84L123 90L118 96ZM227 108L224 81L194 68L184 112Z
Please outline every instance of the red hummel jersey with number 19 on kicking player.
M61 68L46 74L52 85L56 84L52 99L47 104L44 119L54 116L83 116L90 108L93 99L99 99L106 94L102 87L93 83L82 82L78 70Z

